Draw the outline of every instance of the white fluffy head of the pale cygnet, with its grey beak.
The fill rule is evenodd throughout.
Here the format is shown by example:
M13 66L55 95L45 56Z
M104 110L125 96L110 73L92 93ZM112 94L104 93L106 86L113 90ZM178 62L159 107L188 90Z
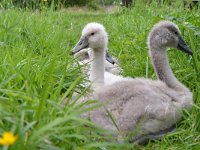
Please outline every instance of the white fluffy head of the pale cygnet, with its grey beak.
M82 35L76 46L73 48L73 54L85 48L92 48L94 51L104 51L106 59L114 64L114 60L107 53L108 35L103 25L99 23L88 23L82 30Z

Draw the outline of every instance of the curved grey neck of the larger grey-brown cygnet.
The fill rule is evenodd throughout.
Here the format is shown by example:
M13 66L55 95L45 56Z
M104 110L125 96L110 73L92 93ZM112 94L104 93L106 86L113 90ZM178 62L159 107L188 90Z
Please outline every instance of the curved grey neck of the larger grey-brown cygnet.
M169 65L166 49L151 48L151 57L157 78L165 82L169 87L177 91L188 91L174 76Z

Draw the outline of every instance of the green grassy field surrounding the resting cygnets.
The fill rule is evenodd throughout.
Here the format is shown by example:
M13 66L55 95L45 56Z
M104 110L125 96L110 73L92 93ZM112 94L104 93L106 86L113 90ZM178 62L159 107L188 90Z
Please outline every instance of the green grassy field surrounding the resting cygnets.
M0 20L0 135L17 135L13 145L0 149L200 149L200 9L141 2L112 13L8 9L1 10ZM118 144L109 132L81 119L90 109L87 104L70 102L74 90L84 94L87 88L81 83L87 81L69 53L82 28L99 22L123 75L156 79L146 39L159 20L177 23L193 50L192 57L172 49L168 55L176 77L193 92L195 105L183 113L175 133L146 146Z

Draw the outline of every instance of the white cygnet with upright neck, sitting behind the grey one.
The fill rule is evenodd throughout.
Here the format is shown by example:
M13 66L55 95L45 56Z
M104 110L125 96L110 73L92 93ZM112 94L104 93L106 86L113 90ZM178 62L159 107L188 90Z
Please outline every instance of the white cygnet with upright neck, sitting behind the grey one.
M93 82L94 88L124 79L122 76L105 72L105 58L110 61L110 58L106 55L107 44L108 35L104 26L99 23L88 23L82 30L79 42L73 49L74 54L84 48L92 49L89 78Z

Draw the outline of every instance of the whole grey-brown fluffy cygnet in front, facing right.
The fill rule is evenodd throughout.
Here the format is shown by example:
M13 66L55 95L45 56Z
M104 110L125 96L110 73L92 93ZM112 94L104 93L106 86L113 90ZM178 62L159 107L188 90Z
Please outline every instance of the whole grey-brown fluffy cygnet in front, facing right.
M145 136L167 131L181 119L181 111L190 110L193 104L192 93L175 78L167 59L167 47L192 54L177 25L169 21L156 24L149 34L148 47L158 80L125 79L98 88L87 97L103 104L90 112L91 121L115 131L119 141L134 131L130 141L139 142Z

